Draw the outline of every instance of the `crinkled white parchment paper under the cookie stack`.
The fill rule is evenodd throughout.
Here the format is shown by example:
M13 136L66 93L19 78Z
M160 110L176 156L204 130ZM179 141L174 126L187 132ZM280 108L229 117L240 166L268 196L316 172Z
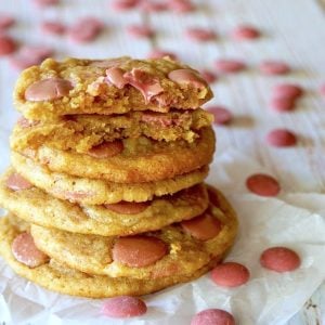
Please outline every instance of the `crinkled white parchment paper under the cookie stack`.
M100 314L104 300L50 292L16 276L0 260L0 320L5 324L190 324L207 308L230 311L243 325L281 325L298 312L325 278L325 199L322 194L281 193L277 198L250 194L247 176L268 172L239 152L216 157L208 182L236 209L240 229L226 260L247 265L251 278L234 289L218 287L207 274L199 280L144 297L148 312L128 321ZM301 268L278 274L259 264L261 251L283 245L295 249Z

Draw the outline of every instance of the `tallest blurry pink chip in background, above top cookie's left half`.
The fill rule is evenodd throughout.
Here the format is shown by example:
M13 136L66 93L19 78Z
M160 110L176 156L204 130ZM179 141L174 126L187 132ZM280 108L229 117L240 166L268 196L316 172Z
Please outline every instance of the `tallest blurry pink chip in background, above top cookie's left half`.
M86 43L93 41L103 30L104 24L96 17L83 17L77 21L69 29L72 40Z

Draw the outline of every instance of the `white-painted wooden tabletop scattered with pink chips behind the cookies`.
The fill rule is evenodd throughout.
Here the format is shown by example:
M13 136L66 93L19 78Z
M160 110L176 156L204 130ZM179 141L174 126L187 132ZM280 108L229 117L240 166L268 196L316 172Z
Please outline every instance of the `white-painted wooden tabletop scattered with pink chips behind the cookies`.
M325 82L325 1L207 0L197 3L198 11L186 15L140 11L116 14L104 0L63 0L58 8L42 11L26 0L1 1L0 11L12 12L17 17L20 24L12 29L12 35L24 43L51 46L58 57L121 54L144 57L157 47L176 52L182 61L197 68L212 69L213 61L219 57L244 60L249 67L246 73L221 77L213 84L216 99L210 104L226 105L235 116L232 126L217 130L218 151L234 147L256 158L272 170L286 192L324 193L325 99L318 94L318 87ZM38 29L44 17L72 23L88 14L107 23L107 30L94 43L80 46L67 39L44 38ZM131 39L125 31L131 23L146 23L157 30L157 36ZM257 26L263 37L258 41L234 42L229 34L240 23ZM216 30L218 40L202 44L186 39L186 27L197 26ZM294 73L286 77L261 76L257 66L268 58L290 63ZM9 164L8 136L17 116L11 103L16 77L8 61L0 60L0 145L5 152L1 169ZM271 88L282 81L298 82L307 90L307 95L290 114L275 114L268 106ZM278 127L294 130L299 145L287 150L265 145L265 133ZM325 285L289 324L324 324L324 297Z

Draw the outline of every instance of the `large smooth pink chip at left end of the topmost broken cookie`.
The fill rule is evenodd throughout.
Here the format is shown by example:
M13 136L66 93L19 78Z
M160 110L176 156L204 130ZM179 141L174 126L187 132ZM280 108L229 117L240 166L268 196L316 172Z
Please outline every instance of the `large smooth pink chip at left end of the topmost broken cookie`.
M53 101L68 95L73 89L70 81L61 78L48 78L28 86L25 91L26 101Z

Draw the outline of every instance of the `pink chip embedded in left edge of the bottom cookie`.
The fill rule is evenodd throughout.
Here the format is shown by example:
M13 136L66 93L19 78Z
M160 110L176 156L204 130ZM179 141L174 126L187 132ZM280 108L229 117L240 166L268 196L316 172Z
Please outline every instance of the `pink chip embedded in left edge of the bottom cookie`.
M34 238L27 232L14 238L11 249L18 262L31 269L44 264L49 260L49 257L36 247Z

